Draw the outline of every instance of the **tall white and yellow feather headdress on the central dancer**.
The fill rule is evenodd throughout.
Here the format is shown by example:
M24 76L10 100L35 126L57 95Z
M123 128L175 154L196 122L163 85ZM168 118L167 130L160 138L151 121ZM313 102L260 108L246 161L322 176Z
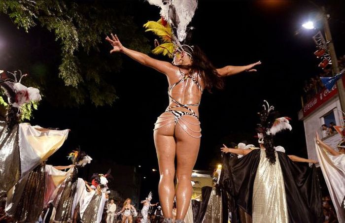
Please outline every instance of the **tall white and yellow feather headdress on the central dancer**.
M198 0L147 0L150 4L161 8L161 19L144 24L146 32L158 35L162 44L155 40L154 54L173 57L175 52L186 52L192 57L193 47L186 43L190 41L192 27L187 28L192 21Z

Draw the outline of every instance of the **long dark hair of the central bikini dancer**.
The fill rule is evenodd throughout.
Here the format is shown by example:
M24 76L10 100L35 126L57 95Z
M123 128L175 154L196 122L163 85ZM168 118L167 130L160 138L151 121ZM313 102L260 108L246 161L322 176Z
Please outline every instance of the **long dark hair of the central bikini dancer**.
M189 66L191 72L200 72L204 89L211 92L211 89L224 88L223 78L218 74L216 68L208 60L205 53L199 46L193 46L193 51L188 46L182 46L183 50L192 55L192 65Z

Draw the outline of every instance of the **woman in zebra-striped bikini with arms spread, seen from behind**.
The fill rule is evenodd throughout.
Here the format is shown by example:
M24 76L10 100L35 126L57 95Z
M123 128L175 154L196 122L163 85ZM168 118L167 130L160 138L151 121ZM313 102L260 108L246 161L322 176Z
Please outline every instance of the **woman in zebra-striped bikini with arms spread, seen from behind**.
M203 91L212 87L222 89L222 77L242 71L256 71L253 67L260 62L245 66L225 66L216 69L198 46L189 45L192 28L187 28L197 8L197 0L148 0L161 7L162 18L149 21L144 26L155 32L163 43L155 41L153 53L168 55L173 64L153 59L140 52L124 47L116 35L106 40L113 49L110 53L121 52L145 66L152 67L167 76L169 106L158 117L154 127L154 141L157 151L161 179L159 198L165 222L172 222L173 199L176 196L177 222L183 222L192 196L190 183L196 162L201 128L198 108ZM177 158L177 187L174 187Z

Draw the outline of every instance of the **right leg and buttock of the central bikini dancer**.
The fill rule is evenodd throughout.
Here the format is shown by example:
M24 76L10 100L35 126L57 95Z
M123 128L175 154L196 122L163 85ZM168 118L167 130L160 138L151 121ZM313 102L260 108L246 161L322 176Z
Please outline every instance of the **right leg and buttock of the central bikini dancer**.
M191 123L195 123L195 118L191 116L183 116L184 119ZM176 205L177 220L184 220L192 197L193 187L191 176L193 167L198 157L200 138L194 138L187 134L185 130L188 128L181 124L176 125L176 157L177 157L177 188L176 188ZM188 125L189 128L198 131L200 126Z

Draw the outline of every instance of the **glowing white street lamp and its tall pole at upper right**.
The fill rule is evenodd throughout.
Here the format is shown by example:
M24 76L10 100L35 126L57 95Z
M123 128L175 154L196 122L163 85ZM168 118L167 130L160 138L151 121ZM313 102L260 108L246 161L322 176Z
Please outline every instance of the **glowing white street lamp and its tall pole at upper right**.
M333 76L335 76L335 75L340 73L340 69L338 66L337 54L336 54L336 51L334 49L331 30L330 30L329 24L328 24L328 19L329 19L330 15L326 13L325 7L322 6L321 9L322 9L321 18L322 18L322 22L323 22L323 31L325 32L327 49L328 49L329 56L331 57L331 61L332 61L332 74L333 74ZM311 22L311 21L303 24L302 27L305 29L314 29L314 28L311 28L311 27L314 27L313 22ZM344 91L344 85L343 85L342 78L340 78L337 81L337 89L338 89L338 97L340 100L340 105L342 107L342 110L345 111L345 91Z

